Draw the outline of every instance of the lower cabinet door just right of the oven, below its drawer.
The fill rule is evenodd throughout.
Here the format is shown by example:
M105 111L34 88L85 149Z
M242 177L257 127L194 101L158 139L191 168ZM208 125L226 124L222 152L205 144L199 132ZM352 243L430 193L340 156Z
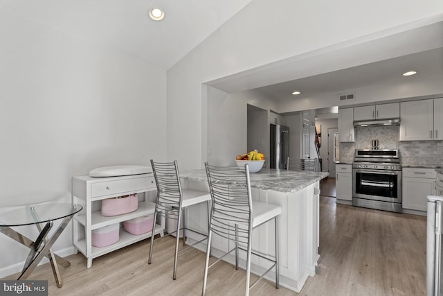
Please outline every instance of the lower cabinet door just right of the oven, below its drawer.
M402 191L404 209L426 211L426 197L435 193L435 179L404 177Z

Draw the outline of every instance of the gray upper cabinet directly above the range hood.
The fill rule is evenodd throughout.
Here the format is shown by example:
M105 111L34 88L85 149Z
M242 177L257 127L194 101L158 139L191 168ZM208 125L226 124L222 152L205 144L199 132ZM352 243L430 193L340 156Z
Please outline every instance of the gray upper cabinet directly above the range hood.
M354 107L354 121L398 119L399 117L400 103Z

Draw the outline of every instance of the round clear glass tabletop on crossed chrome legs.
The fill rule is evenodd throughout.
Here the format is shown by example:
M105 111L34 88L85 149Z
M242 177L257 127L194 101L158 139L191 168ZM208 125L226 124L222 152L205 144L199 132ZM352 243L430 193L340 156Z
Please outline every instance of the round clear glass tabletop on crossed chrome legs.
M80 204L33 204L0 214L0 227L32 225L72 216L82 210Z

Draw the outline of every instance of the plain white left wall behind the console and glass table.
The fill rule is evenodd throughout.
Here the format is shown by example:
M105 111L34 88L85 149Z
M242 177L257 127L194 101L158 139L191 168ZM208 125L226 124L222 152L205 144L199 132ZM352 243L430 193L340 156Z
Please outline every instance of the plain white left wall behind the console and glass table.
M0 206L69 202L73 175L165 159L165 71L1 9L0 35ZM2 277L28 250L0 246Z

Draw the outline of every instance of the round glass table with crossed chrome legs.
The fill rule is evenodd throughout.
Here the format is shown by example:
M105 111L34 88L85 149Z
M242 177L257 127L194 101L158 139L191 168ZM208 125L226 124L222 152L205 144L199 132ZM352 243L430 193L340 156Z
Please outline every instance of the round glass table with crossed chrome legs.
M60 278L57 263L65 268L69 267L71 263L55 255L51 247L73 216L81 210L82 206L80 204L46 203L22 206L0 214L0 232L30 248L24 268L21 270L21 275L18 279L27 279L38 263L46 256L51 262L57 287L62 287L62 279ZM49 236L55 220L61 220L60 225ZM35 241L11 228L24 225L35 225L37 227L39 235Z

